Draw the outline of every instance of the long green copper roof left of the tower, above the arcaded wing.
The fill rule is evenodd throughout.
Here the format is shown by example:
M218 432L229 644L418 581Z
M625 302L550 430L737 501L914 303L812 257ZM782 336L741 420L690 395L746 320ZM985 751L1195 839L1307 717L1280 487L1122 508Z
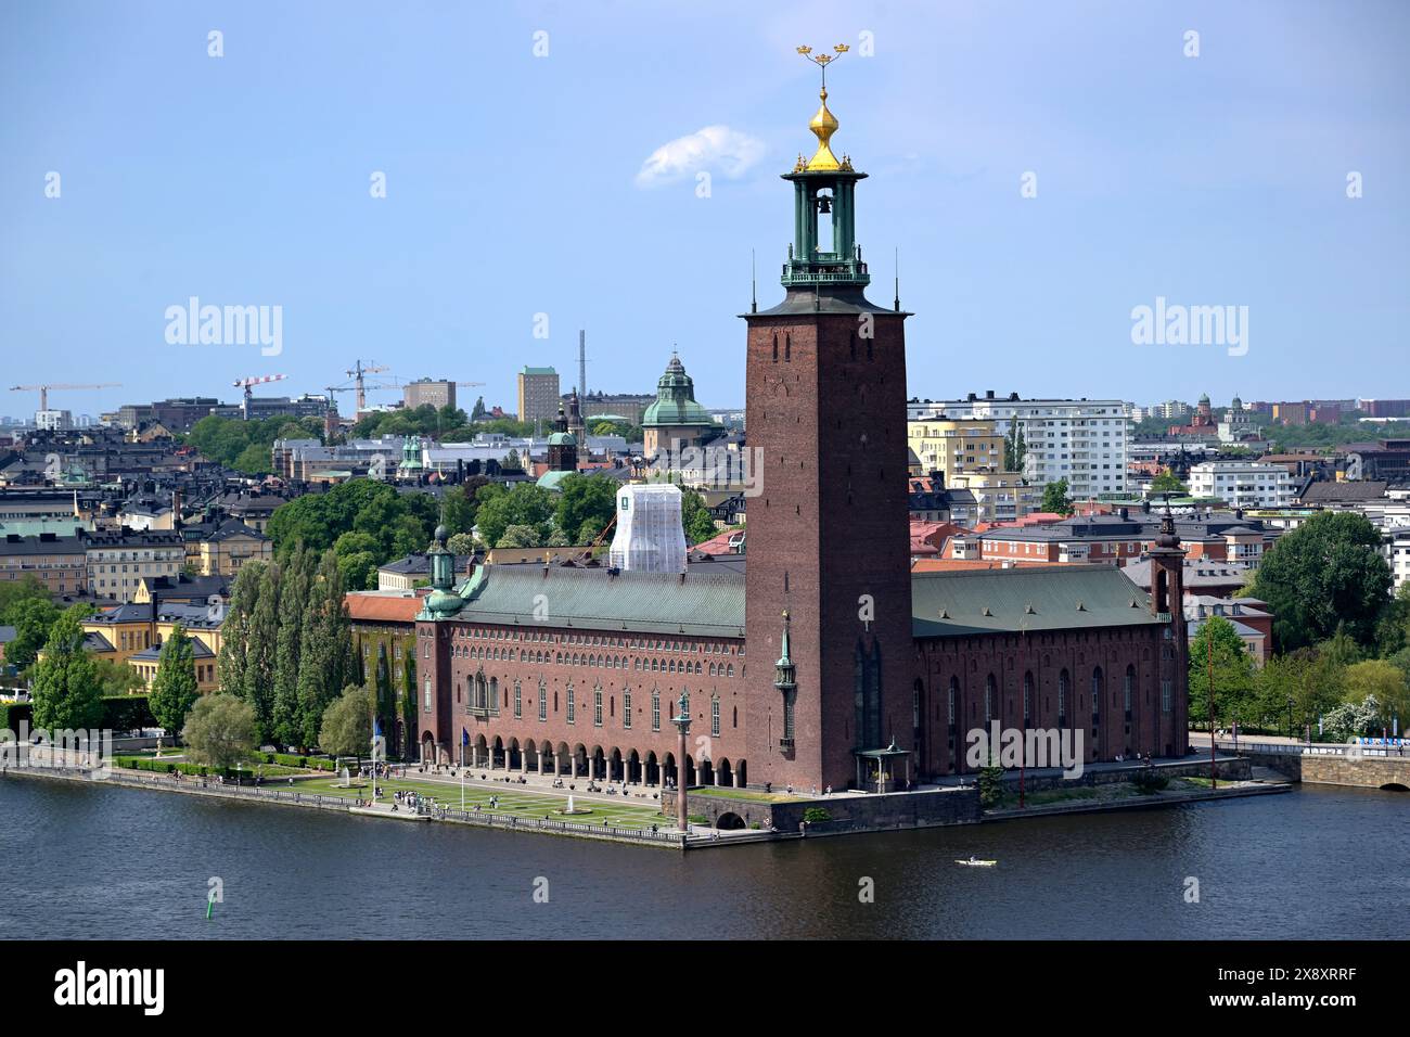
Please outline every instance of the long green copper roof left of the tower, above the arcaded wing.
M602 633L744 636L744 577L618 573L558 566L481 566L460 588L461 622L571 626ZM537 619L534 611L547 610Z

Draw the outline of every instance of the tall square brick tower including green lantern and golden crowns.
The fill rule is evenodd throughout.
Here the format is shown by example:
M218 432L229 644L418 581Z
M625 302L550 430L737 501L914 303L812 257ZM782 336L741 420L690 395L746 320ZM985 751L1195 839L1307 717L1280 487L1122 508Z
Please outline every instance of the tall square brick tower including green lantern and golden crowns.
M823 69L809 123L818 151L784 176L794 188L784 301L743 315L746 440L761 475L744 577L749 783L845 789L860 772L876 787L874 758L859 753L914 748L908 315L900 299L884 309L864 295L854 199L866 174L830 148L833 55L799 52Z

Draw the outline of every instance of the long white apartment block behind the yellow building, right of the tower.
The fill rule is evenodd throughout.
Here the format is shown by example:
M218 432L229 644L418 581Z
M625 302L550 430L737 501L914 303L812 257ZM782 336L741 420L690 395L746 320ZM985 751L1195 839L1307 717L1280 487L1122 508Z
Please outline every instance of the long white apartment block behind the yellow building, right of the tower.
M1076 499L1124 494L1131 404L1121 399L1019 399L970 394L967 399L911 401L907 418L991 420L1000 435L1014 422L1024 432L1024 478L1032 485L1067 480Z

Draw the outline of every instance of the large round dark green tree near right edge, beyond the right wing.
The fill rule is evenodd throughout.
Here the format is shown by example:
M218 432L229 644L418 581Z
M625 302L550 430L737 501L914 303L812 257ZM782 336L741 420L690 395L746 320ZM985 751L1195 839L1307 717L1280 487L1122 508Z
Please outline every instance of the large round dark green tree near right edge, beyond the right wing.
M1341 624L1371 645L1390 583L1379 530L1355 512L1324 511L1263 554L1251 593L1272 607L1283 650L1330 638Z

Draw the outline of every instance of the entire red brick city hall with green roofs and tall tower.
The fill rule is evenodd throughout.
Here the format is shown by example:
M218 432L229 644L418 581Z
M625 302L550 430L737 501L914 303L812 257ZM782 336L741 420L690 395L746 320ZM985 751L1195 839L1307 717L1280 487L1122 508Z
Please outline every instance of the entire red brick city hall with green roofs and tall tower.
M1080 732L1086 762L1182 756L1182 557L911 573L905 320L866 298L866 174L832 150L826 66L792 186L783 301L742 315L763 463L744 574L481 566L433 546L417 615L423 759L660 786L891 790L964 773L966 735ZM701 571L697 571L701 570ZM684 704L691 742L680 751Z

